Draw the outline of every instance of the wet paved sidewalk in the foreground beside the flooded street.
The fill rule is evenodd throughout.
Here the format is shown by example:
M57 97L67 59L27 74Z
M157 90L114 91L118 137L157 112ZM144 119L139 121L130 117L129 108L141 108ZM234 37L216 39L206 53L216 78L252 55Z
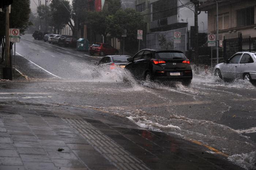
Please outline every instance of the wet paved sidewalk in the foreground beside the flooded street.
M97 110L0 105L0 170L241 169L206 151Z

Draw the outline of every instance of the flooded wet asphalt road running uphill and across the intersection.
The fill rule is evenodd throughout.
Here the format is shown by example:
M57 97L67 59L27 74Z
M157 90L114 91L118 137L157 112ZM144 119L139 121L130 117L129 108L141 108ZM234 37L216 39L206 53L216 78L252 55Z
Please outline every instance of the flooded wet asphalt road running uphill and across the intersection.
M93 78L94 63L102 57L31 35L16 43L16 52L16 69L28 80L0 82L1 103L94 108L154 131L200 141L234 162L256 159L256 88L248 82L227 83L202 71L190 87L178 82L166 86L138 83L123 70L107 68ZM123 83L123 76L131 83Z

